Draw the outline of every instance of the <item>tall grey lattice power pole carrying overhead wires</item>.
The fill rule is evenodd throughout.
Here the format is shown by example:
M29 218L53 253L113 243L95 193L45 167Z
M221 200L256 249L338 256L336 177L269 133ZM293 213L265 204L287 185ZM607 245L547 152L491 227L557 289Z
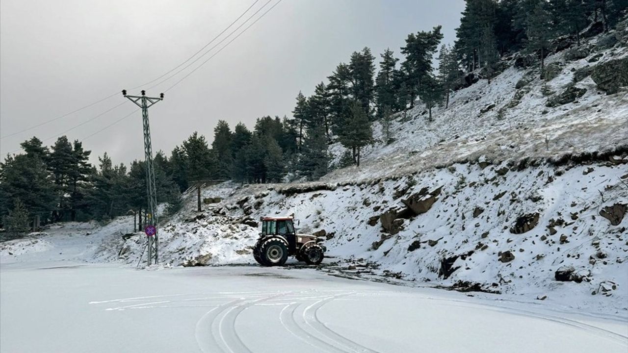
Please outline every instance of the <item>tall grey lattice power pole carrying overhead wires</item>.
M153 147L151 146L151 129L148 124L148 108L156 102L163 100L163 93L159 98L146 97L146 91L142 90L142 95L126 95L126 89L122 90L122 95L136 106L142 108L142 121L144 124L144 160L146 160L146 193L148 195L148 214L146 214L146 245L148 246L148 266L157 263L158 243L157 236L157 191L155 187L155 175L153 168ZM149 227L154 227L154 235L149 231Z

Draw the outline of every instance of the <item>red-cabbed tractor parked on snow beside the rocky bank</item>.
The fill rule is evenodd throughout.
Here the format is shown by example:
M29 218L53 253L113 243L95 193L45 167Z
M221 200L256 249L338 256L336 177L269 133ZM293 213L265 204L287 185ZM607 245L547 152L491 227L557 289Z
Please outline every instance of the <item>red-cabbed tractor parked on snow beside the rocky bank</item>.
M325 257L322 237L297 234L294 217L262 217L262 232L253 248L253 257L262 266L281 266L288 256L307 264L320 264Z

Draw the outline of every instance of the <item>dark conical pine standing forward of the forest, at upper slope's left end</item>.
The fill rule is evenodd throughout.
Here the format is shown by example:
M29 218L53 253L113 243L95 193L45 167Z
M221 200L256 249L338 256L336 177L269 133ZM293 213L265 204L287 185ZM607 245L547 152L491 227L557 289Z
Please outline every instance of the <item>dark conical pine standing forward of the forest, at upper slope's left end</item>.
M360 166L360 150L372 141L371 122L360 102L354 102L351 112L340 136L340 143L351 149L355 164Z

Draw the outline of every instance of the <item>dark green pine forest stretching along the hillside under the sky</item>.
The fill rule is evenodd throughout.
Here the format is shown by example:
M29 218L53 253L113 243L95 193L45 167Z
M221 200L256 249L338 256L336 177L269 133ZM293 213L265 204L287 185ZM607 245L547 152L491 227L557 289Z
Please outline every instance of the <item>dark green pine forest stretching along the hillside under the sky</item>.
M441 27L410 33L398 53L379 58L367 47L338 63L310 96L298 92L291 117L259 117L252 129L219 121L211 131L193 132L168 154L154 156L159 202L180 206L181 192L197 180L280 183L317 180L328 171L360 165L361 150L373 142L371 124L394 139L393 114L423 104L448 106L455 90L467 87L469 72L489 80L504 67L501 58L521 52L534 59L541 77L544 58L561 45L614 28L628 0L466 0L453 45L441 44ZM437 62L438 65L433 65ZM345 153L330 163L328 145ZM0 222L19 234L34 215L42 224L67 220L108 220L146 209L143 161L116 163L105 153L98 165L82 141L62 136L51 146L36 138L22 153L0 163Z

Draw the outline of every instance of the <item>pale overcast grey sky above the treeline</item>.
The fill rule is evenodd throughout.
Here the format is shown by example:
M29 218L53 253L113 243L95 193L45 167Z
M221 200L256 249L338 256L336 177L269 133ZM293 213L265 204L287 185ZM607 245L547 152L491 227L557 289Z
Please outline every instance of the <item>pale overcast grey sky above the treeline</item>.
M267 1L257 1L239 23ZM271 0L257 16L276 1ZM253 2L2 0L0 136L156 79L214 38ZM386 48L399 55L408 33L438 24L443 26L443 41L452 43L463 6L463 0L283 0L149 109L153 150L170 155L193 131L211 141L219 119L232 127L242 121L252 128L257 117L290 116L299 90L311 94L339 62L347 62L352 52L364 46L379 62L379 53ZM157 96L204 60L148 94ZM85 122L125 100L119 94L3 138L0 153L4 159L31 136L53 144L58 134L78 124L82 125L65 134L72 140L83 139L136 109L126 101ZM141 112L85 139L84 146L92 150L93 163L105 151L114 163L143 158Z

